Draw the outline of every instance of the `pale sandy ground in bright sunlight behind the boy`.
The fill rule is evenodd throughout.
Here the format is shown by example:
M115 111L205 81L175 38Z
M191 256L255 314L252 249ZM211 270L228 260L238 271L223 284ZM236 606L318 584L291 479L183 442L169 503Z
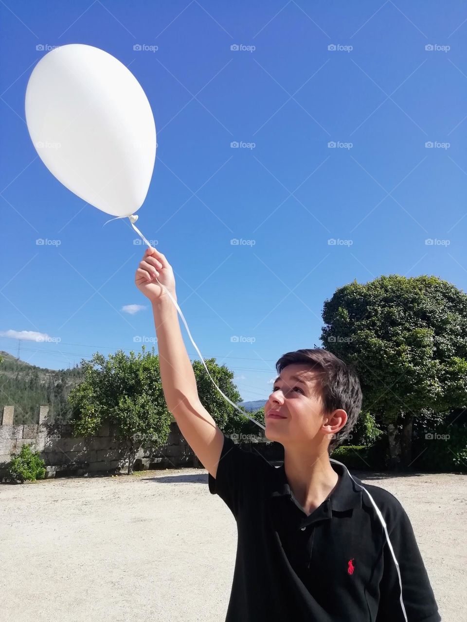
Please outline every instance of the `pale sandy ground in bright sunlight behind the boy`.
M443 622L467 620L467 475L387 476ZM0 485L2 622L222 622L237 530L207 471Z

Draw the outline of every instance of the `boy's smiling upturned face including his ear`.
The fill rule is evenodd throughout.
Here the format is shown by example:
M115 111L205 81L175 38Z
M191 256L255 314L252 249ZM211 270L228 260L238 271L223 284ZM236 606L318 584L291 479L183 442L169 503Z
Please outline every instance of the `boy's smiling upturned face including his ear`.
M323 412L319 391L315 392L316 371L303 364L291 364L282 370L265 404L265 436L281 445L322 447L347 422L347 413L338 409ZM284 419L270 417L278 412Z

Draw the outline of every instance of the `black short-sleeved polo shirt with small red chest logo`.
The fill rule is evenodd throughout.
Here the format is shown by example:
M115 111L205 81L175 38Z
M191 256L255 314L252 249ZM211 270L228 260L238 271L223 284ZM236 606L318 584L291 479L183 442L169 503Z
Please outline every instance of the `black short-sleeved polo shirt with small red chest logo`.
M271 465L224 435L209 491L237 521L237 555L226 622L405 622L384 528L346 468L309 516ZM352 474L357 483L362 484ZM408 622L440 622L413 529L399 501L364 484L387 525Z

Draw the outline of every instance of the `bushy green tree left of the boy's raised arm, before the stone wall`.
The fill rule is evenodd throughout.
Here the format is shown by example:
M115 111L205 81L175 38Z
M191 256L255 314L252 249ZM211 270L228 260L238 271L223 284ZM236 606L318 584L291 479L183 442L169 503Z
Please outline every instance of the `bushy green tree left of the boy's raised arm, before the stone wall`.
M164 445L170 432L159 357L154 346L151 352L144 345L142 350L138 356L118 350L108 359L95 353L91 361L82 360L84 379L68 396L75 435L95 435L104 423L116 426L116 437L128 452L128 474L139 447L149 441Z

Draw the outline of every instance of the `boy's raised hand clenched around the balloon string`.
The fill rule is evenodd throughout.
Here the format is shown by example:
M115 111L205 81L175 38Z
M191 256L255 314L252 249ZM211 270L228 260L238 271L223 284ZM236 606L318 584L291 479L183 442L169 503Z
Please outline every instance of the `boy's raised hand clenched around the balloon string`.
M134 283L139 291L143 292L151 302L154 302L167 296L167 292L159 285L158 281L167 287L176 300L175 278L172 266L167 261L165 255L151 247L146 249L146 253L144 253L143 259L139 263L134 276Z

